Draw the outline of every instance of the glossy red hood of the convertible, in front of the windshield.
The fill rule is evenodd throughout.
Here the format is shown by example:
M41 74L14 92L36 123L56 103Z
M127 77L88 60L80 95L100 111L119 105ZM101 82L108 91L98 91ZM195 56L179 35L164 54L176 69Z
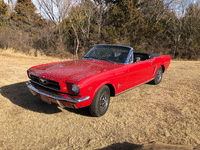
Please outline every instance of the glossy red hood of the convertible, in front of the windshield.
M60 82L61 80L75 80L119 68L123 64L96 60L73 60L36 66L30 73L41 78Z

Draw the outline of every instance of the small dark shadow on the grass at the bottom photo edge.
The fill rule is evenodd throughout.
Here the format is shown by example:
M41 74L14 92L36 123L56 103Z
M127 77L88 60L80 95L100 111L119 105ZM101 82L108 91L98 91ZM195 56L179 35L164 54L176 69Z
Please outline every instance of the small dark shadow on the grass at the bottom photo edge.
M142 149L142 145L137 145L137 144L128 143L128 142L115 143L115 144L109 145L107 147L100 148L98 150L119 150L119 149L124 149L124 150L140 150L140 149Z

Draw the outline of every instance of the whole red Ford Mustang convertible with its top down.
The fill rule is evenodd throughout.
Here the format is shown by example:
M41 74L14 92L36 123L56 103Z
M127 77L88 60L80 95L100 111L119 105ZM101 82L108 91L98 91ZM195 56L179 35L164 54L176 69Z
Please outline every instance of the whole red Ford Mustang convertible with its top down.
M122 45L95 45L79 60L55 62L28 69L27 86L49 104L89 106L93 116L106 113L110 96L151 82L159 84L171 57L135 53Z

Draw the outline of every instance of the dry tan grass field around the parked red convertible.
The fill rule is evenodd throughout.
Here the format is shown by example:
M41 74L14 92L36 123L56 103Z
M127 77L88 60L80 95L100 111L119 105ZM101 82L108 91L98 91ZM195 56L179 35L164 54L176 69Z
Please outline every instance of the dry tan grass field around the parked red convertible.
M159 85L111 98L108 112L62 109L32 96L26 70L59 59L0 52L0 149L134 149L200 144L200 61L172 61ZM186 149L187 149L186 148Z

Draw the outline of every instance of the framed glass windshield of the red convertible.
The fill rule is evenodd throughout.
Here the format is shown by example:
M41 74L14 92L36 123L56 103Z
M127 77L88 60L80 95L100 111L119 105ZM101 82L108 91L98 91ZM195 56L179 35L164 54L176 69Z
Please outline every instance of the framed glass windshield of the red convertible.
M95 45L83 59L102 60L115 63L125 63L130 48L113 45Z

